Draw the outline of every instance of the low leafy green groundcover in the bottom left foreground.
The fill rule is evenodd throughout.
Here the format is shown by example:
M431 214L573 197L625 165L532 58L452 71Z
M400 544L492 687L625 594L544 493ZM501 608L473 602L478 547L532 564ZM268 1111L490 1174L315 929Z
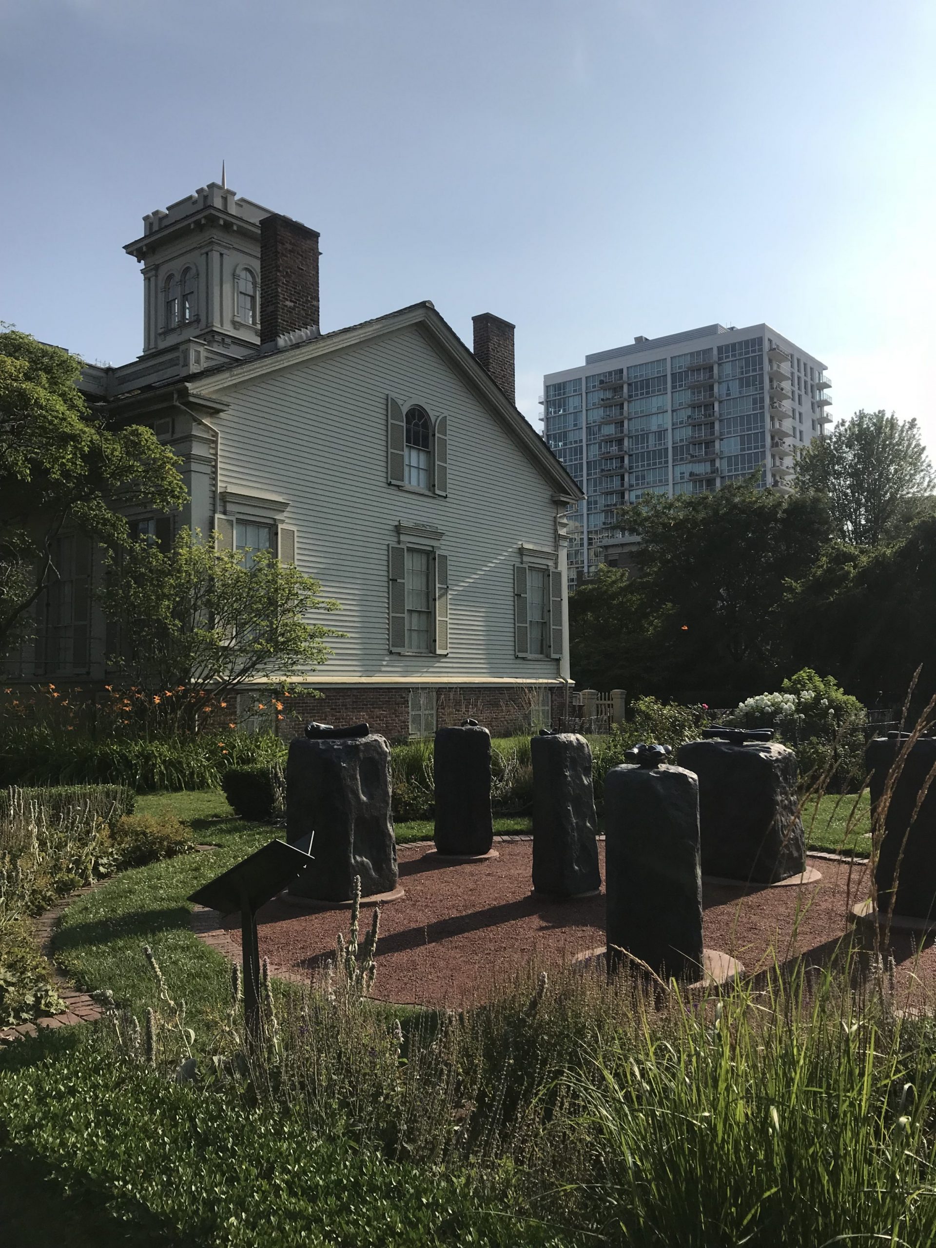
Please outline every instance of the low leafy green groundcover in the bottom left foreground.
M529 1217L507 1168L388 1159L341 1131L310 1132L301 1112L257 1104L250 1086L218 1093L170 1082L87 1036L45 1045L45 1061L6 1060L5 1147L104 1204L135 1243L147 1226L154 1237L171 1227L172 1242L227 1248L569 1243Z

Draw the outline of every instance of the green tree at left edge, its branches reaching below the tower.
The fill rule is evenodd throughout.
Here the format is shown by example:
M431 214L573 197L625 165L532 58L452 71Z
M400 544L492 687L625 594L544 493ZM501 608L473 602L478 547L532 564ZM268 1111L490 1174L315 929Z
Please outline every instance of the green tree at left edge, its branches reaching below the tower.
M185 500L176 457L151 429L110 428L91 412L76 387L82 367L27 333L0 332L0 654L57 575L59 534L125 542L117 508Z

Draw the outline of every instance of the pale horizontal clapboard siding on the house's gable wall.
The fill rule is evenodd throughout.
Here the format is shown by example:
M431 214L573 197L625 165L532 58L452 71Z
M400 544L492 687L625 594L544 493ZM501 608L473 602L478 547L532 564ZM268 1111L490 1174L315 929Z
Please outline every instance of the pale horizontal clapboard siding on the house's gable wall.
M555 547L553 487L416 328L216 392L221 488L290 499L296 562L342 612L327 680L557 679L555 659L514 653L513 567L522 542ZM448 417L448 497L387 484L387 394ZM388 651L387 544L396 525L439 528L448 555L449 653ZM201 519L203 529L211 517Z

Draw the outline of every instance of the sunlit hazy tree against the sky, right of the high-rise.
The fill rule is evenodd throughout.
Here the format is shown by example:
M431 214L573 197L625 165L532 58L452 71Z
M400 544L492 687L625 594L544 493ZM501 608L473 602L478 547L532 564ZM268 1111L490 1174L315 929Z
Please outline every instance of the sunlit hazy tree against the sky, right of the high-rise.
M936 485L916 421L884 411L856 412L814 438L796 459L795 482L821 493L841 540L861 547L897 537Z

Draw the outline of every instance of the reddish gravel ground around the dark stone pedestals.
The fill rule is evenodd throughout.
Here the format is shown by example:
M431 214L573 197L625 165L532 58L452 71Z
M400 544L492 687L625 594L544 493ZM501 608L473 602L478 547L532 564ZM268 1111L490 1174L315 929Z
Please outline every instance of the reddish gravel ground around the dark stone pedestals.
M382 907L374 996L394 1002L461 1007L484 1000L499 978L530 958L550 963L604 943L604 896L542 901L530 895L532 842L498 842L500 856L484 862L446 864L431 844L404 845L399 882L406 897ZM604 844L599 845L604 869ZM748 972L774 958L810 962L831 956L852 929L847 916L869 894L865 864L810 859L822 872L801 887L744 890L705 885L705 945L739 958ZM305 911L272 901L258 915L261 955L281 973L305 977L347 932L348 911ZM362 927L369 921L362 911ZM240 927L225 921L230 952ZM892 951L902 985L936 990L932 937L916 955L919 936L894 934ZM916 975L914 980L910 970ZM936 993L935 993L936 995Z

